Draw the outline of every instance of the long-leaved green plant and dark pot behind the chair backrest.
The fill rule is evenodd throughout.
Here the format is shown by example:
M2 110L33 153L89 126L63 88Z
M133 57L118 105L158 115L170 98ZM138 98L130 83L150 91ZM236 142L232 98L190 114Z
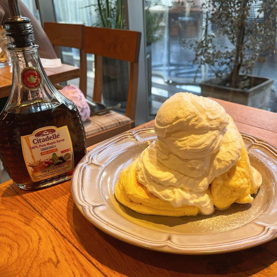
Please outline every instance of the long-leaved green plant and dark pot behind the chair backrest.
M98 15L96 27L111 29L125 29L124 0L97 0L95 11ZM107 106L114 106L121 103L126 107L129 71L128 62L116 60L108 57L102 57L102 97Z

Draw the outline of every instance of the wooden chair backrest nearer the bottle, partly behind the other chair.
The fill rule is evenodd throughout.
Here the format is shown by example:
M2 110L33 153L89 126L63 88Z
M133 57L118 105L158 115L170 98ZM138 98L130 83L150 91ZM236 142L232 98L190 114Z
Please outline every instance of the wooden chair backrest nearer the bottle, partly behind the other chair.
M84 52L84 25L44 22L44 31L59 57L59 46L73 47L80 50L80 83L79 88L86 96L87 62Z

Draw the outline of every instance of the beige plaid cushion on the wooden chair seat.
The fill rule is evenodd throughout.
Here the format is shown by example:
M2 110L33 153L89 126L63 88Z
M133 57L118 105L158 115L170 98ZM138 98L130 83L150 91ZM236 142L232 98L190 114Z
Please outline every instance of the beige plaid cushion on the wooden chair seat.
M110 111L101 116L91 116L90 122L84 122L84 127L86 135L89 136L130 121L131 119L129 117Z

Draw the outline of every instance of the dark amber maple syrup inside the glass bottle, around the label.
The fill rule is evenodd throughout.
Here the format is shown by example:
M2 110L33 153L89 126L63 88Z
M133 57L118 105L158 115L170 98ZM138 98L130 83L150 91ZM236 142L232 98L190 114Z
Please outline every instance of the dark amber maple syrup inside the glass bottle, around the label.
M30 110L31 109L31 110ZM33 109L33 110L32 110ZM37 109L38 110L38 109ZM33 182L24 161L21 137L46 126L57 128L67 125L73 146L74 167L86 154L86 137L81 117L75 105L53 104L49 109L35 112L34 106L26 107L26 113L15 113L6 109L0 114L0 158L13 181L21 188L43 188L70 178L72 172L42 181Z

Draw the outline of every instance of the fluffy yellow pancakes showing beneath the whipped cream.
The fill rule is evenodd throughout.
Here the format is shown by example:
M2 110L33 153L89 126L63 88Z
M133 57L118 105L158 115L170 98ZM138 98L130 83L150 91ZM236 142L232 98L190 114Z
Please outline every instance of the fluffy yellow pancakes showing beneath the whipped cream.
M218 209L228 208L234 202L249 203L253 201L251 194L257 193L257 189L261 185L261 175L250 165L248 152L241 135L240 140L242 151L237 163L226 173L216 177L209 186L212 202ZM120 173L116 183L115 196L121 204L140 214L195 216L199 213L199 208L196 206L173 207L169 202L150 193L137 181L136 165L137 160L134 160Z

